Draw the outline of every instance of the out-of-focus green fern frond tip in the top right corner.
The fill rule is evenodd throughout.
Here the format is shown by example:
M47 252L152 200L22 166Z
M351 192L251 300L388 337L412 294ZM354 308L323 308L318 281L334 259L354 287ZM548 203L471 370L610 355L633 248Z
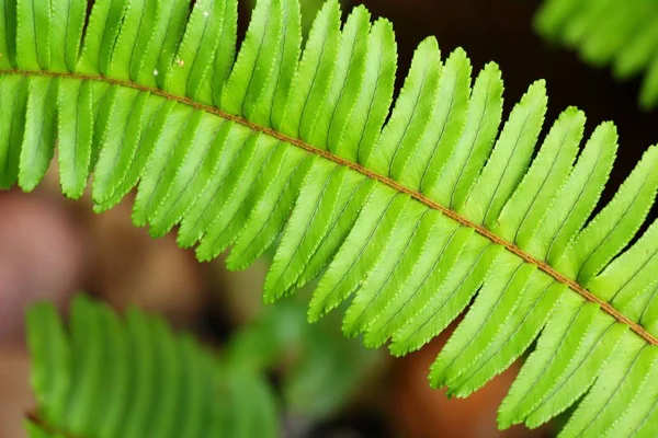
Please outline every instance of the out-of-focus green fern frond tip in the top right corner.
M645 72L639 103L647 110L658 104L656 1L545 0L535 27L593 66L611 64L619 79Z

